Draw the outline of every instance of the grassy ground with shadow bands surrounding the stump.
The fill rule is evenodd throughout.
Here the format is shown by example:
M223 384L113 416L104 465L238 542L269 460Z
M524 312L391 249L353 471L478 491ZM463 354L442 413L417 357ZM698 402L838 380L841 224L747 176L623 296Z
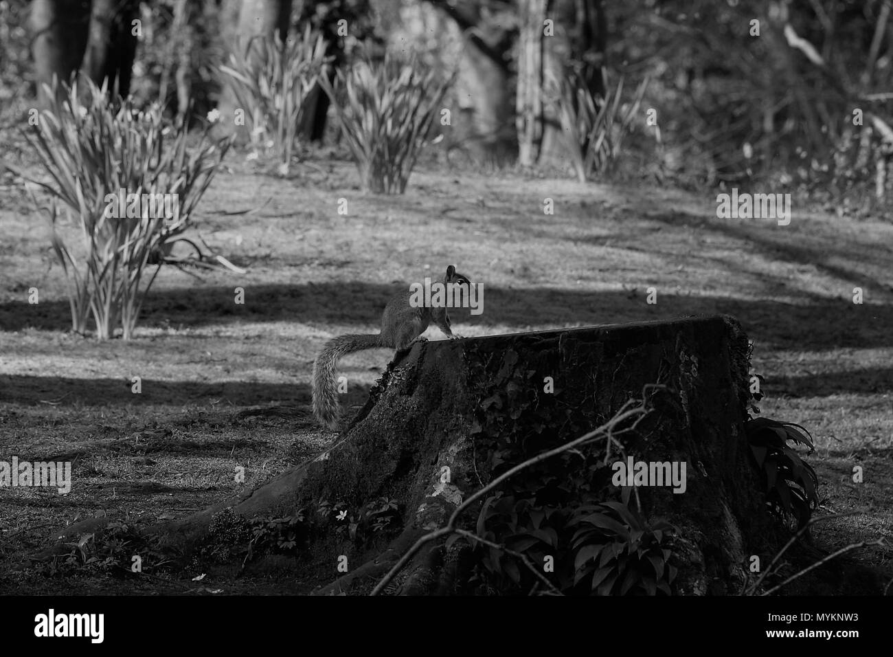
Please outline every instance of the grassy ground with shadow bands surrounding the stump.
M29 154L19 165L29 166ZM713 192L653 182L581 184L448 163L421 166L404 196L363 194L349 162L318 158L288 178L230 153L198 207L204 240L247 274L167 268L136 339L69 332L63 271L46 220L0 175L0 454L72 459L67 496L0 489L0 590L288 593L299 576L217 574L134 585L102 575L44 577L22 557L55 529L107 513L179 517L313 455L329 439L306 417L313 357L339 333L378 330L390 294L448 264L484 285L465 336L728 313L755 341L766 417L814 435L822 487L814 527L825 552L889 538L893 518L893 224L795 204L788 226L716 217ZM2 168L2 167L0 167ZM29 168L37 173L37 168ZM346 214L338 214L339 199ZM544 202L554 200L554 215ZM38 288L39 303L28 303ZM237 287L245 304L235 303ZM647 303L647 289L656 303ZM854 288L864 303L853 302ZM431 339L437 329L429 329ZM342 361L361 404L389 358ZM134 394L130 379L142 379ZM287 407L282 415L245 413ZM853 482L863 467L864 483ZM848 563L893 577L893 551ZM790 570L792 572L792 570ZM881 586L882 588L882 586ZM819 589L814 589L819 590ZM880 593L859 579L847 593ZM823 590L824 593L833 593Z

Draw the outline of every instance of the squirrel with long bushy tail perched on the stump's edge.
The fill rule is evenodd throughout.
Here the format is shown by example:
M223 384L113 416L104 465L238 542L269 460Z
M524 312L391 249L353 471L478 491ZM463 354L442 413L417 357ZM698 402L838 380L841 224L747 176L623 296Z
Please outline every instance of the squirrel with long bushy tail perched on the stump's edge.
M468 277L456 272L453 265L447 267L443 282L445 285L471 285ZM381 333L339 335L323 345L320 355L313 361L313 415L321 425L338 431L335 370L341 357L355 351L381 347L389 347L397 352L407 350L413 342L425 341L419 336L430 323L436 324L450 339L459 337L450 330L446 306L413 307L409 303L412 295L412 291L404 291L388 301L381 314Z

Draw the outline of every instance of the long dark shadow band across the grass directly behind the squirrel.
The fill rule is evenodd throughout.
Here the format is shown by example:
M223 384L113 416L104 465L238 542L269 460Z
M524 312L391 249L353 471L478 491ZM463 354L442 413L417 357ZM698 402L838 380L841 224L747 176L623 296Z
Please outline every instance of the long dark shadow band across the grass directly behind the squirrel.
M367 331L377 325L381 309L399 286L353 283L246 286L244 305L234 303L233 288L200 287L153 291L146 299L140 326L197 328L238 323L300 322L356 324ZM484 312L451 313L462 333L464 324L507 324L519 331L543 326L618 324L648 319L726 313L736 316L748 335L759 342L803 350L893 346L893 306L848 298L809 297L802 305L762 299L729 299L661 293L648 305L645 290L578 292L563 288L488 288ZM0 304L0 331L33 327L66 331L67 301L29 305ZM9 340L9 336L5 336ZM758 351L757 351L758 353Z

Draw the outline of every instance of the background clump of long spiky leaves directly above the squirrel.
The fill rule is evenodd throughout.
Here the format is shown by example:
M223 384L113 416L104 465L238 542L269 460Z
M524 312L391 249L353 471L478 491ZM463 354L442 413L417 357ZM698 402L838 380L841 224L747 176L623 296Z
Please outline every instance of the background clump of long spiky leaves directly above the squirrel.
M336 88L320 84L335 106L363 190L402 194L428 139L449 82L417 59L386 55L339 70Z

